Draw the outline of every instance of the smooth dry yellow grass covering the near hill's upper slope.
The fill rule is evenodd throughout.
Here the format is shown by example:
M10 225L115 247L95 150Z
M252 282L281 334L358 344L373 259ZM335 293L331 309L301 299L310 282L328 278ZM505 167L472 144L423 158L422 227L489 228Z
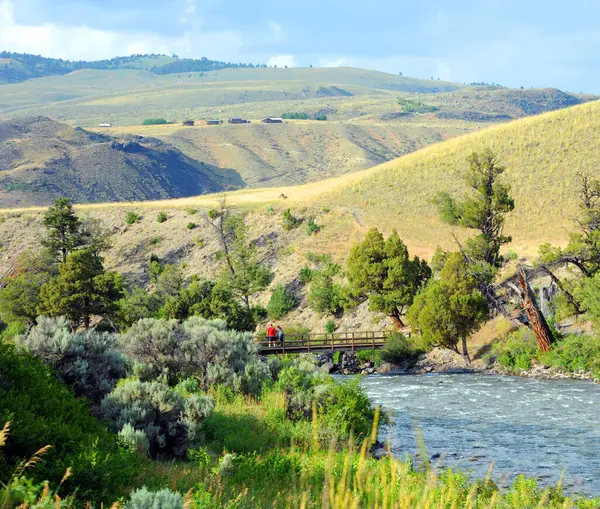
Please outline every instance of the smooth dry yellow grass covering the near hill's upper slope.
M600 167L600 102L521 119L436 144L364 171L300 186L227 193L231 204L259 207L331 207L352 212L361 229L397 228L417 253L451 246L452 230L440 223L432 198L464 192L461 174L472 151L490 147L507 167L516 208L507 222L510 246L532 255L546 241L564 242L576 212L576 174ZM287 199L281 198L281 195ZM209 208L215 195L138 203L81 205L81 210ZM15 211L43 210L16 209ZM0 211L2 212L2 211ZM4 210L6 212L6 210ZM464 232L463 232L464 234Z

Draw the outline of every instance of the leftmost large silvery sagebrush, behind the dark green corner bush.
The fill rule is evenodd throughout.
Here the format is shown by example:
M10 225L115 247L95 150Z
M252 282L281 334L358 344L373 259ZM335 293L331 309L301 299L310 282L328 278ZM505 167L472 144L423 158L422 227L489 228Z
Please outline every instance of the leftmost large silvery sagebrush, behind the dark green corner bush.
M99 402L125 376L117 336L89 330L72 334L65 318L38 318L16 342L51 366L77 396Z

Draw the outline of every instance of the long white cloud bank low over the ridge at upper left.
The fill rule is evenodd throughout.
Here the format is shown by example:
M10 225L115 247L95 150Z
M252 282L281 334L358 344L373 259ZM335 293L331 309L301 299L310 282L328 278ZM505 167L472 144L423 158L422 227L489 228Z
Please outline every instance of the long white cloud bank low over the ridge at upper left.
M191 3L188 5L191 9ZM241 34L232 31L183 32L174 37L154 32L114 31L45 23L25 25L15 21L14 5L0 0L0 48L71 60L103 59L132 53L177 53L198 57L206 48L215 59L237 59L244 45Z

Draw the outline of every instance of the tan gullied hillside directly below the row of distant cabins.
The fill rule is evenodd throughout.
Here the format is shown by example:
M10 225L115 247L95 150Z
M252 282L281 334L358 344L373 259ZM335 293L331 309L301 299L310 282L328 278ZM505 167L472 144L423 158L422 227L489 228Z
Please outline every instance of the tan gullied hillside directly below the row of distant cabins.
M122 136L152 136L188 156L219 168L235 168L250 187L314 182L362 170L469 130L465 122L346 123L289 121L284 124L182 127L125 126L96 129Z

